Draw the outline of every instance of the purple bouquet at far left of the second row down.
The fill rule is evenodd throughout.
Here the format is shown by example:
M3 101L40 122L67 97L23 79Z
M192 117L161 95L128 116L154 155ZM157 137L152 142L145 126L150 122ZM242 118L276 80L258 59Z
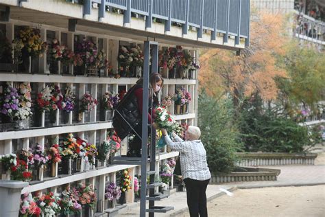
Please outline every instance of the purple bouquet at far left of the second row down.
M5 85L3 95L0 98L1 113L11 120L15 119L19 111L19 94L16 88L10 83Z

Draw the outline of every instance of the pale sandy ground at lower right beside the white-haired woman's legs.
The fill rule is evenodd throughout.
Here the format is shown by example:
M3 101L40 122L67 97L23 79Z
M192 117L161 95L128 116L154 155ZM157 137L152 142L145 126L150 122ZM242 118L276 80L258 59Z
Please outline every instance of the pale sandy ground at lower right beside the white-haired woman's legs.
M315 165L325 165L324 146L313 148ZM208 202L208 216L324 216L325 185L239 189ZM186 212L180 216L189 216Z

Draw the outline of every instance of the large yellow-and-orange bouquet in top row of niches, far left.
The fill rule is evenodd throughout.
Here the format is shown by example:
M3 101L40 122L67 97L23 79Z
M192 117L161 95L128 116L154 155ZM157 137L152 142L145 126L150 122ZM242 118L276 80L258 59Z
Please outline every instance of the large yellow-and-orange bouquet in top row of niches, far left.
M41 57L47 51L47 43L40 37L40 30L32 27L23 27L12 41L15 58L21 60L19 71L30 73L31 60L29 57ZM31 67L33 70L33 67ZM36 71L33 71L36 72Z

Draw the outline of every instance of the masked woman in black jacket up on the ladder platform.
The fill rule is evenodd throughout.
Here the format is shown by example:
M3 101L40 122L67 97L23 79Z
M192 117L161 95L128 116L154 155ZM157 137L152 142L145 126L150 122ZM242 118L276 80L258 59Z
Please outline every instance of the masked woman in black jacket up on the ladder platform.
M151 110L159 105L158 93L163 87L163 78L158 73L152 73L149 78L149 114L148 122L153 122ZM113 124L117 135L121 139L128 134L134 134L135 137L129 144L128 157L141 157L141 137L142 137L142 104L143 104L143 78L140 78L134 87L124 96L123 100L117 106ZM148 130L150 133L150 130Z

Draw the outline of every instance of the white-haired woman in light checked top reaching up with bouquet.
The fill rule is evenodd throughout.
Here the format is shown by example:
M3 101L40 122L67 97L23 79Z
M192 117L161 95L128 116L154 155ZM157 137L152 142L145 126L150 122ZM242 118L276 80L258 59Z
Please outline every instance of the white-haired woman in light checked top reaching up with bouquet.
M180 152L180 168L186 185L187 206L191 217L208 216L206 209L206 187L210 181L210 171L206 163L206 150L201 142L201 130L196 126L189 126L183 141L173 133L171 140L167 131L162 130L167 146L171 150Z

